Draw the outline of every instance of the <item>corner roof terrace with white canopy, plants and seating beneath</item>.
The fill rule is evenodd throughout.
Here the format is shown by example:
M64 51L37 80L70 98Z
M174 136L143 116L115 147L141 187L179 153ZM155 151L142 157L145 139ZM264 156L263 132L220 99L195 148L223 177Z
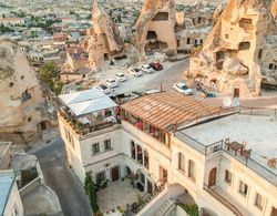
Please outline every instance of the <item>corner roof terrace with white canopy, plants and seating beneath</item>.
M59 96L62 116L76 134L88 134L119 122L117 104L100 90L92 89Z

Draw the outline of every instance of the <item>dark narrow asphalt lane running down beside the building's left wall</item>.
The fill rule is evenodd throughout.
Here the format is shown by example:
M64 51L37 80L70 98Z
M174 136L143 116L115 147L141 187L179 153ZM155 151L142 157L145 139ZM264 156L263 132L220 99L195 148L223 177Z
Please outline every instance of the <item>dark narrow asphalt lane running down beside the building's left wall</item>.
M64 216L92 215L83 186L66 165L64 143L59 137L33 152L47 184L57 193Z

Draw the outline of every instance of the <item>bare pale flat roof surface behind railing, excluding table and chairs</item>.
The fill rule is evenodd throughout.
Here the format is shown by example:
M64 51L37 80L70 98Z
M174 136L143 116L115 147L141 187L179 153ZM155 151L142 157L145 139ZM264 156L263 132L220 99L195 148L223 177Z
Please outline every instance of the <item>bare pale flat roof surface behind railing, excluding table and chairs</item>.
M267 165L268 160L277 158L276 131L277 120L271 116L235 114L183 130L182 133L206 146L225 138L246 143L246 148L252 150L250 157L277 175L277 168Z

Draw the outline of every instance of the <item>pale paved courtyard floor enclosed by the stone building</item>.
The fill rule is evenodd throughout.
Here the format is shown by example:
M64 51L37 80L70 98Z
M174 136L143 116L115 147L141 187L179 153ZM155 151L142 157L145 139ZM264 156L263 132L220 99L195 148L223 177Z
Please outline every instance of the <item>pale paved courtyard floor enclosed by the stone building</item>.
M125 209L126 204L137 200L138 194L143 195L142 192L131 186L129 179L117 181L98 193L98 204L103 213L117 208L117 206Z

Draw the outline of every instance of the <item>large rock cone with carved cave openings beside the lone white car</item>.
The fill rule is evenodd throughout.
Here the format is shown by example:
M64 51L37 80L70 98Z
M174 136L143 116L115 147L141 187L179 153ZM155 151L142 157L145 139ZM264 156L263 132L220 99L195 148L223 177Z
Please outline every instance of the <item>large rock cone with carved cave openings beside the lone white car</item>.
M270 0L229 0L202 51L191 58L189 72L206 85L215 83L218 92L259 95L271 10Z

